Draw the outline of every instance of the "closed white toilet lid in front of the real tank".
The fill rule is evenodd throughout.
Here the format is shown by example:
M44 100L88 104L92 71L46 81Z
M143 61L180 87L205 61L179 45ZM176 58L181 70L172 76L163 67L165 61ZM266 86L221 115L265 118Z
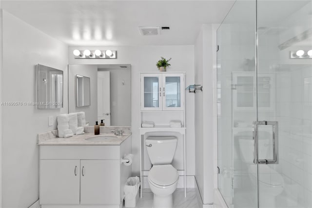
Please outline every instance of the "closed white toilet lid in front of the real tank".
M172 185L178 178L179 174L172 165L153 166L148 173L148 179L159 186Z

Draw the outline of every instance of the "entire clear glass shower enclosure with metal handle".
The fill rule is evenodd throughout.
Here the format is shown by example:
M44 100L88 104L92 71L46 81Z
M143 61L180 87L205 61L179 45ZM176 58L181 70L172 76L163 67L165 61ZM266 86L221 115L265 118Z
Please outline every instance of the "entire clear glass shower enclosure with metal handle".
M226 204L312 208L312 1L237 0L217 45Z

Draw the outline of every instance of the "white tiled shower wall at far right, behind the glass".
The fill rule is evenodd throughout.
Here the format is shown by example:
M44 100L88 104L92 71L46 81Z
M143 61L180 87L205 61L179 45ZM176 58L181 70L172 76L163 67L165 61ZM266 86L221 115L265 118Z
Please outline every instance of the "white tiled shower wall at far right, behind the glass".
M286 67L288 66L288 67ZM312 207L312 68L280 66L276 72L276 119L285 194Z

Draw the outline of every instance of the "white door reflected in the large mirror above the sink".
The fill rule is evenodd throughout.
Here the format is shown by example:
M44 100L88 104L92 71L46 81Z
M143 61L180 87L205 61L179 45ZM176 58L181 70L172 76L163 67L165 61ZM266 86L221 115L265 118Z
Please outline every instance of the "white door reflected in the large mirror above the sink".
M109 71L98 71L98 122L111 125L111 78Z

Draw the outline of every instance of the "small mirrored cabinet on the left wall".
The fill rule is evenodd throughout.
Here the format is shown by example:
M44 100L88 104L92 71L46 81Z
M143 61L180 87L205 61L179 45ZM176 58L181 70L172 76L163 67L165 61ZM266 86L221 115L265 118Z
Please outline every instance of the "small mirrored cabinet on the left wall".
M38 70L38 109L63 107L63 71L41 64Z

